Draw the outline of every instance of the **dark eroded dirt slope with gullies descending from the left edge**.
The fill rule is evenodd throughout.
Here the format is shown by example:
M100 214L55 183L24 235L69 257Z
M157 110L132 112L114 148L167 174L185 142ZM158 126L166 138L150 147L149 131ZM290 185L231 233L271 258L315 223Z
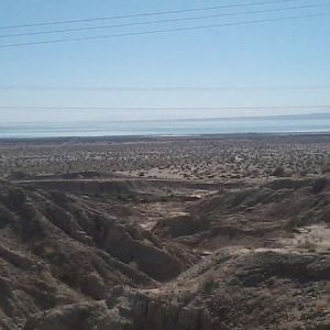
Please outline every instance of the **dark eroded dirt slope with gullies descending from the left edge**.
M0 312L9 329L38 311L105 299L116 284L155 286L197 260L123 221L111 202L7 182L0 237Z

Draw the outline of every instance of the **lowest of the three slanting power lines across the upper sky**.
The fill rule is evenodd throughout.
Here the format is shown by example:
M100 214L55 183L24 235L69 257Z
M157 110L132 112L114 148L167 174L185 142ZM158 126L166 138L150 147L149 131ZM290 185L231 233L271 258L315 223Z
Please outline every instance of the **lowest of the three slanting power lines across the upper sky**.
M99 36L84 36L84 37L57 38L57 40L37 41L37 42L23 42L23 43L0 45L0 48L20 47L20 46L29 46L29 45L45 45L45 44L55 44L55 43L69 43L69 42L80 42L80 41L107 40L107 38L117 38L117 37L124 37L124 36L152 35L152 34L168 33L168 32L198 31L198 30L207 30L207 29L215 29L215 28L240 26L240 25L250 25L250 24L257 24L257 23L290 21L290 20L320 18L320 16L329 16L329 15L330 13L305 14L305 15L283 16L283 18L275 18L275 19L260 19L260 20L250 20L250 21L231 22L231 23L222 23L222 24L150 30L143 32L119 33L119 34L110 34L110 35L99 35Z

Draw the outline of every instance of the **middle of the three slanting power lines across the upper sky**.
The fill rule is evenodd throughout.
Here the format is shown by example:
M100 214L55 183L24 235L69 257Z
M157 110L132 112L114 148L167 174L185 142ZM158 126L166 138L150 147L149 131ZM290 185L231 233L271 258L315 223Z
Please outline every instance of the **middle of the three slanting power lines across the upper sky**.
M51 31L12 33L12 34L2 34L2 35L0 35L0 38L19 37L19 36L30 36L30 35L45 35L45 34L67 33L67 32L96 31L96 30L105 30L105 29L113 29L113 28L141 26L141 25L151 25L151 24L161 24L161 23L197 21L197 20L205 20L205 19L216 19L216 18L226 18L226 16L239 16L239 15L245 15L245 14L273 13L273 12L287 11L287 10L301 10L301 9L311 9L311 8L324 8L324 7L329 7L329 6L330 6L330 3L293 6L293 7L285 7L285 8L263 9L263 10L252 10L252 11L240 11L240 12L231 12L231 13L219 13L219 14L212 14L212 15L201 15L201 16L190 16L190 18L177 18L177 19L166 19L166 20L157 20L157 21L133 22L133 23L124 23L124 24L112 24L112 25L101 25L101 26L88 26L88 28L75 28L75 29L59 29L59 30L51 30Z

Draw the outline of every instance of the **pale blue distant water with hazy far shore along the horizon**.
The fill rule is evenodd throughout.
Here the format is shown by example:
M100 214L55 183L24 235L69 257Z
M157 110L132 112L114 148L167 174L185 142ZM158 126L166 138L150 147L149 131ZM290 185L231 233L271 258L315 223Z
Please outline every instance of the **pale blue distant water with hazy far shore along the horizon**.
M0 123L1 139L330 132L330 113L170 121Z

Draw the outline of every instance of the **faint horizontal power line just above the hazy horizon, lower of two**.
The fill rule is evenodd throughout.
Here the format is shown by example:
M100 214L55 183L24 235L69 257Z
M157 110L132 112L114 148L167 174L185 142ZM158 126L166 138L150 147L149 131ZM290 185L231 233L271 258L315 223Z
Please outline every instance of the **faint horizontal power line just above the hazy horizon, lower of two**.
M170 111L170 110L304 110L304 109L329 109L330 106L265 106L265 107L28 107L28 106L1 106L0 110L108 110L108 111L143 111L143 110L157 110L157 111Z

